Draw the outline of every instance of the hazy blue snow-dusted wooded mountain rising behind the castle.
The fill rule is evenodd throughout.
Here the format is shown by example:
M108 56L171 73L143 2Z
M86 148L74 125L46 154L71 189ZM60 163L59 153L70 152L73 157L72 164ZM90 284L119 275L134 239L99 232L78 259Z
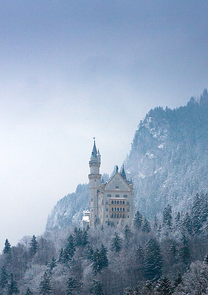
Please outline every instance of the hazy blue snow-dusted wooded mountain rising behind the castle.
M134 183L136 209L148 218L167 204L173 211L186 209L196 193L207 193L207 89L198 102L192 97L184 107L151 110L135 132L125 168ZM88 199L88 184L79 184L75 193L58 201L47 229L81 223Z

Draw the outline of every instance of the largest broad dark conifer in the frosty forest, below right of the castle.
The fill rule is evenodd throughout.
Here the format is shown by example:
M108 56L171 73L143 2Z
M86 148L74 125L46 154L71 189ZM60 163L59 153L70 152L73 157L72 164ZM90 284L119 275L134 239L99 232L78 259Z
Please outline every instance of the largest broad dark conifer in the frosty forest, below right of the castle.
M151 238L145 248L145 276L151 281L156 281L162 274L162 256L160 245L156 238Z

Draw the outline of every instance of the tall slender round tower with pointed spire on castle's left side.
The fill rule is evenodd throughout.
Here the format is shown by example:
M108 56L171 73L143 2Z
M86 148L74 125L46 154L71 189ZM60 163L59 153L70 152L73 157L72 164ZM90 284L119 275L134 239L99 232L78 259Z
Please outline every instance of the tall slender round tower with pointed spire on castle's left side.
M98 218L98 190L101 183L101 155L99 149L97 151L94 139L92 155L89 161L90 174L88 175L90 182L90 226L94 226L94 222Z

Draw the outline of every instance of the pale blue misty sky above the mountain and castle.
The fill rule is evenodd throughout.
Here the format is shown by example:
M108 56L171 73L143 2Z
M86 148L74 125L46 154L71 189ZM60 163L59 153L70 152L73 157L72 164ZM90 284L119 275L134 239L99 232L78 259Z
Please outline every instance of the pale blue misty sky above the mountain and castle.
M39 235L57 200L122 165L155 106L208 87L208 1L0 1L0 248Z

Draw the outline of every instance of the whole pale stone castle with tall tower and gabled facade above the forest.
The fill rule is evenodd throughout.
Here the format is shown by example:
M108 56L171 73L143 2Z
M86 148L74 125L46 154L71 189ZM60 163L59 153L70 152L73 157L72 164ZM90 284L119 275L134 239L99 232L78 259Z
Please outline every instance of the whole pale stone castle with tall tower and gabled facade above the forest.
M131 223L133 219L133 182L127 180L124 165L122 173L116 166L115 174L104 183L100 174L101 154L95 140L89 161L90 211L84 211L83 224L94 226L95 222L118 224ZM102 177L102 179L101 179Z

